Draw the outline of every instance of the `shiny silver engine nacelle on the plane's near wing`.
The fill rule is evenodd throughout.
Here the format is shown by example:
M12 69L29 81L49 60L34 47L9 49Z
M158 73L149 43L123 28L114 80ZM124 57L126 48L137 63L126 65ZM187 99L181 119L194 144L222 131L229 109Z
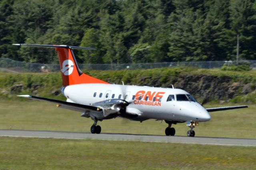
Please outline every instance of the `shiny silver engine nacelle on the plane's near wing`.
M128 105L129 103L123 99L110 99L92 104L92 106L102 109L104 117L112 114L120 115L125 113L126 106Z

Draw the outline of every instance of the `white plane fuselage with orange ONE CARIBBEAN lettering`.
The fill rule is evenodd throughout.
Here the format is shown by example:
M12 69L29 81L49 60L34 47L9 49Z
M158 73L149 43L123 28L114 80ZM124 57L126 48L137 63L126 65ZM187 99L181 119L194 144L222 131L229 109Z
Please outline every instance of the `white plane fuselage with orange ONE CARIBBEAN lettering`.
M130 104L126 112L136 113L134 121L147 119L203 122L210 121L209 113L196 101L183 100L188 92L182 89L88 83L69 85L62 89L67 101L82 105L108 99L124 99Z

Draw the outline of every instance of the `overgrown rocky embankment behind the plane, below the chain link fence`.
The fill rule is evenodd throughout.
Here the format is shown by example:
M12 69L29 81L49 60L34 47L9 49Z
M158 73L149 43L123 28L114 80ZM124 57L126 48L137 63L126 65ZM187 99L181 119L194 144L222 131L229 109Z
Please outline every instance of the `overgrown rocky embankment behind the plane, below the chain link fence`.
M101 73L101 72L100 72ZM109 83L120 84L125 77L111 76L111 74L94 75L99 79L108 81ZM47 75L47 77L45 77ZM125 75L120 74L120 75ZM174 85L175 88L184 89L192 94L199 102L202 100L212 101L230 101L236 100L237 103L249 101L255 103L256 98L256 80L250 76L235 77L233 75L217 76L209 74L170 74L170 73L154 73L154 74L134 74L129 75L125 81L127 85L146 85L154 87L169 87ZM10 81L10 80L12 81ZM11 84L6 84L0 88L0 96L12 98L18 94L31 94L47 97L61 97L59 88L62 86L61 78L58 74L37 74L37 75L19 75L2 79L2 83L10 81ZM249 98L248 98L249 96ZM247 98L244 98L247 97Z

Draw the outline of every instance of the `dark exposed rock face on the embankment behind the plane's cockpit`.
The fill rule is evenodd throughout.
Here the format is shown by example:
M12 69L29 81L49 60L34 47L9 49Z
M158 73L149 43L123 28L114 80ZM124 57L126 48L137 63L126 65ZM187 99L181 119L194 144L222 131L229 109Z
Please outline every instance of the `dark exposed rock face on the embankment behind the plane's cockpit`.
M228 76L180 75L174 79L175 87L184 89L196 98L227 101L238 95L247 95L255 91L252 83L235 82Z

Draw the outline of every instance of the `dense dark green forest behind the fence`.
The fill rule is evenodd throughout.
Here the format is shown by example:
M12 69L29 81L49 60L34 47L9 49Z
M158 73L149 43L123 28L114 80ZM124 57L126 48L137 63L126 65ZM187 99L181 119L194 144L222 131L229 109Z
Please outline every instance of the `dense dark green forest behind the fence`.
M57 63L54 50L12 43L95 47L80 63L256 59L255 0L1 0L0 55Z

